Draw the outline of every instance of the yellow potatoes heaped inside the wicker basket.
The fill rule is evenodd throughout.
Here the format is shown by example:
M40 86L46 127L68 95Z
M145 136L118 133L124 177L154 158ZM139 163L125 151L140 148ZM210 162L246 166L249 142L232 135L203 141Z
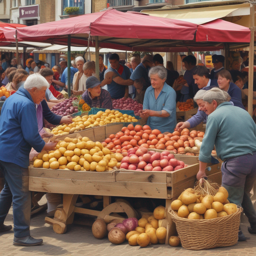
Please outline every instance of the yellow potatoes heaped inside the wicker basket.
M192 188L186 189L171 203L171 208L179 217L191 220L225 217L237 211L237 206L229 203L224 187L220 187L215 196L202 196Z

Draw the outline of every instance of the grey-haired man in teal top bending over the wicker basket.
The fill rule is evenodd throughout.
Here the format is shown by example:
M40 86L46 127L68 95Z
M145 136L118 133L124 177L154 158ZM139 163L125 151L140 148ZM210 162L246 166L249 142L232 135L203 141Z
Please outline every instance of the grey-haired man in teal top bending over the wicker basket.
M205 170L215 145L223 161L222 186L228 191L228 200L243 207L251 225L248 231L256 234L256 211L250 199L256 181L256 125L247 111L227 102L227 97L227 92L219 88L203 96L208 121L200 148L197 179L206 177ZM238 236L239 241L246 240L241 230Z

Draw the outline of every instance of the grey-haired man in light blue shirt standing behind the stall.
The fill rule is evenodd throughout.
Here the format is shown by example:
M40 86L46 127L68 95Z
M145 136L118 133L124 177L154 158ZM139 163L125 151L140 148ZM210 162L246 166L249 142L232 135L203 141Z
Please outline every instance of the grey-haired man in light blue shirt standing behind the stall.
M167 71L162 66L150 69L151 86L145 92L141 118L151 129L173 132L176 126L176 92L165 81Z

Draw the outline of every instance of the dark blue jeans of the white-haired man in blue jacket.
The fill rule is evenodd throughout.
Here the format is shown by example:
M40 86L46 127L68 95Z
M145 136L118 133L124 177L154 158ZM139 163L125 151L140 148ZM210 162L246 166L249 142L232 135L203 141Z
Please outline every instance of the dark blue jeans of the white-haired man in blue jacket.
M5 179L0 193L0 224L4 223L13 203L14 236L29 236L31 196L28 190L28 169L0 161L0 172Z

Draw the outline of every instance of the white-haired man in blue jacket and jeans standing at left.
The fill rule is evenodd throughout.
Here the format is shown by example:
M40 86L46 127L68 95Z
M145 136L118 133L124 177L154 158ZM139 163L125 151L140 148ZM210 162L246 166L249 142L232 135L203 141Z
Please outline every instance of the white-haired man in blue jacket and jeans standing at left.
M39 74L30 75L24 88L9 97L0 118L0 172L5 179L0 194L0 232L10 230L4 220L13 204L14 245L33 246L42 239L30 236L31 199L28 190L29 153L52 150L56 143L45 143L38 133L36 105L45 97L48 82Z

